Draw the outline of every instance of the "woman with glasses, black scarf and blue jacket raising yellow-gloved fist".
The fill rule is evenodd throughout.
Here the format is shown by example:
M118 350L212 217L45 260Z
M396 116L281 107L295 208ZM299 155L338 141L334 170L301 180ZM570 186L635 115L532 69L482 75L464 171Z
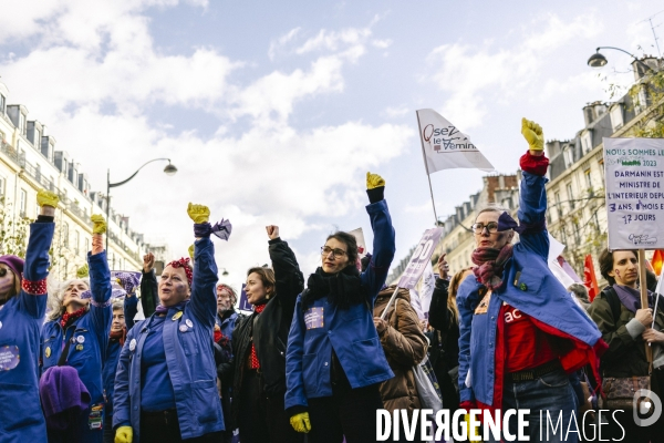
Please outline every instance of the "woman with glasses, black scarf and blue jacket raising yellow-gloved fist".
M373 321L373 303L394 257L394 228L383 198L385 182L366 176L373 256L359 271L357 243L347 233L328 237L322 266L298 298L286 358L286 408L310 443L376 441L380 383L394 377Z

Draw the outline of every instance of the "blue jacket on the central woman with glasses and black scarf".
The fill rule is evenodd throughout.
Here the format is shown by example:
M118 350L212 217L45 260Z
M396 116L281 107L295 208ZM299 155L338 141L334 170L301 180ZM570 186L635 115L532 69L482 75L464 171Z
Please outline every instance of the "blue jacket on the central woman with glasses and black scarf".
M318 299L312 308L322 309L323 326L307 329L302 296L298 297L286 352L286 409L307 406L307 399L332 395L332 349L353 389L394 377L373 322L373 305L394 258L394 228L385 200L366 206L366 212L374 233L373 257L360 276L367 290L366 302L341 310L326 297Z

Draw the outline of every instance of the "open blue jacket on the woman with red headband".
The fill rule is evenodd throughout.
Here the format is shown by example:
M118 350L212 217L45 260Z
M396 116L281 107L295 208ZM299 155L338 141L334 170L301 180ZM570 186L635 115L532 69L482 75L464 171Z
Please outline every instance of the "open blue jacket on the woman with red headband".
M212 353L217 313L215 247L209 238L201 238L195 249L191 298L181 315L176 308L168 310L163 331L183 440L224 430ZM113 426L131 425L134 443L141 442L141 356L148 320L137 322L127 334L115 375Z

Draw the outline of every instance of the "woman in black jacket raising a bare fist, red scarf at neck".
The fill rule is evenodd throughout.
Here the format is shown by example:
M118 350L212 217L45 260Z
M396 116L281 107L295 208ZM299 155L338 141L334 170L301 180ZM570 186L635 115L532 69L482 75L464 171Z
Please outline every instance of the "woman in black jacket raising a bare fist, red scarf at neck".
M273 270L255 267L247 271L245 291L253 313L232 332L231 420L240 429L242 443L298 443L303 436L289 424L283 394L286 342L304 277L292 249L279 237L279 227L266 230Z

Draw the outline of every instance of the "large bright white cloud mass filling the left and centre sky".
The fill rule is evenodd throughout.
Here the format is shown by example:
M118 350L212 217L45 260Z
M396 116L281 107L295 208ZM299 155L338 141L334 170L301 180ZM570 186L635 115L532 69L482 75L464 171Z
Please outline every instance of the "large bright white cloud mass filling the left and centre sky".
M191 243L187 203L208 204L215 217L234 224L231 240L217 245L217 258L238 276L268 261L266 225L278 224L286 238L295 239L321 229L312 219L363 206L366 169L402 154L414 133L394 124L290 124L299 101L343 92L344 66L376 45L371 28L323 30L291 49L308 55L297 68L231 81L243 61L214 48L176 55L156 48L144 11L176 3L79 0L22 11L18 21L25 25L0 31L0 39L22 39L29 51L0 59L0 70L11 102L24 103L29 119L48 125L56 148L82 164L93 188L104 188L106 168L117 181L148 159L172 158L175 177L156 166L143 169L113 190L115 208L131 215L132 228L148 239L166 238L178 256ZM270 55L301 33L295 28L272 41ZM219 119L218 127L214 135L200 135L196 126L176 130L152 115L152 106L177 115L203 111ZM229 130L246 117L242 131Z

